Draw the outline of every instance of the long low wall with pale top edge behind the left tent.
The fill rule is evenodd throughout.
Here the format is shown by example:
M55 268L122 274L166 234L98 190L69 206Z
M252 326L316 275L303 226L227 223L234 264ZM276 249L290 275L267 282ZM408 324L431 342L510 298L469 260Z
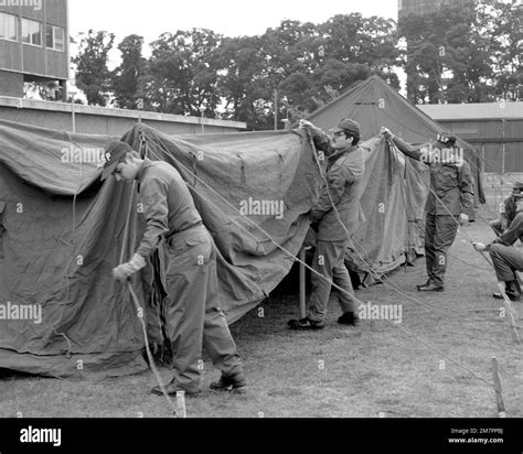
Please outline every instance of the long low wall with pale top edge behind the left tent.
M57 131L122 136L140 119L169 136L241 132L247 125L137 110L0 97L0 119Z

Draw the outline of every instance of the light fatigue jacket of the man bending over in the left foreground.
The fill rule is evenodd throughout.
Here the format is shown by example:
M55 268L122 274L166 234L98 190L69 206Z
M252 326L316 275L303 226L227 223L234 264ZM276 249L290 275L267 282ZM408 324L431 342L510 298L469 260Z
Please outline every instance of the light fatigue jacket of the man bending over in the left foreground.
M139 203L143 208L147 228L138 252L152 255L161 237L170 237L201 224L189 188L178 171L167 162L148 159L138 173Z

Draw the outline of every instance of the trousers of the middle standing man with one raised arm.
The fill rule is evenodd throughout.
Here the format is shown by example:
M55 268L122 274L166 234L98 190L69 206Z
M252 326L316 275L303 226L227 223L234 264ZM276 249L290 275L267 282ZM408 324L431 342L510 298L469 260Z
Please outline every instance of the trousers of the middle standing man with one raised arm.
M327 317L327 306L332 283L344 291L338 291L338 299L343 313L357 313L354 289L351 277L344 264L348 241L318 241L316 246L311 274L312 293L309 300L308 317L314 322L323 322Z

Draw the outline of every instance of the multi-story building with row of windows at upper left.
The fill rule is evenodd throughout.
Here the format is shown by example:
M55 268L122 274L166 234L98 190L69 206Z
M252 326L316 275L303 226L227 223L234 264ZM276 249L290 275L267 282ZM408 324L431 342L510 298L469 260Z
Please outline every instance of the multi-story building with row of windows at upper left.
M68 36L67 0L0 0L0 96L21 98L36 82L65 99Z

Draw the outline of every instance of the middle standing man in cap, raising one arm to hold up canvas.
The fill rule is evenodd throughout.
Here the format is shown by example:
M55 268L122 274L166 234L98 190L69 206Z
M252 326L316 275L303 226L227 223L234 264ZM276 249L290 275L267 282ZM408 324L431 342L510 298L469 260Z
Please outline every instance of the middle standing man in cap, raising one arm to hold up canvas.
M328 184L311 210L311 223L318 228L318 242L308 314L306 318L290 321L289 326L292 329L323 328L332 283L343 290L338 292L343 313L338 323L355 326L357 307L344 256L350 235L355 231L362 216L360 197L365 154L359 147L360 125L343 118L337 128L331 129L332 139L309 121L301 120L300 128L307 130L316 148L327 156Z

